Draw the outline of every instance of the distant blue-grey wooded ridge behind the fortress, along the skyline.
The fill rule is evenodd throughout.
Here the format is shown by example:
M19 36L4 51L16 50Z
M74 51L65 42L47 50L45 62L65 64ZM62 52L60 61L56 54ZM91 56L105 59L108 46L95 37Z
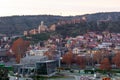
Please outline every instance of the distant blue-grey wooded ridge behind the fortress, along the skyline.
M94 24L98 20L110 19L112 20L112 22L120 21L120 12L95 13L95 14L86 14L80 16L65 16L65 17L53 16L53 15L0 17L0 33L9 34L9 35L22 34L24 30L37 28L41 21L44 21L45 25L50 26L51 24L58 23L59 21L79 19L82 18L83 16L86 17L87 23L93 22ZM88 24L85 25L87 25L86 27L89 27ZM92 25L92 23L89 25ZM95 27L95 25L93 25L93 27Z

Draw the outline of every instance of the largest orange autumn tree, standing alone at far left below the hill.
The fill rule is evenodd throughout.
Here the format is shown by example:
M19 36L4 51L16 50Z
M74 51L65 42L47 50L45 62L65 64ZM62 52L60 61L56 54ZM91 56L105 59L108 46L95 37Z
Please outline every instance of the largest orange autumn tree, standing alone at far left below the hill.
M16 41L13 42L12 51L14 53L17 63L19 63L20 59L25 55L29 44L29 41L25 41L22 38L18 38Z

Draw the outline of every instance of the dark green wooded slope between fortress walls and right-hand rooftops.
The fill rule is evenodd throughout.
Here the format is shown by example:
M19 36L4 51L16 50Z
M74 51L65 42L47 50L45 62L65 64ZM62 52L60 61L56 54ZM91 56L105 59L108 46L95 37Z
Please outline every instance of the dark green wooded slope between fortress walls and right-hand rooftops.
M99 25L95 21L82 22L76 24L60 25L56 29L56 33L62 36L77 36L85 34L87 31L102 32L109 31L120 33L120 21L101 22Z

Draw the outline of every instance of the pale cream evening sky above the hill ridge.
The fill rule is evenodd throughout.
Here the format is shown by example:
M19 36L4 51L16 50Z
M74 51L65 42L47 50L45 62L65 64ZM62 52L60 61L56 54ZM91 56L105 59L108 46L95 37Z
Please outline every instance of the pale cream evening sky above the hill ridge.
M0 16L120 12L120 0L0 0Z

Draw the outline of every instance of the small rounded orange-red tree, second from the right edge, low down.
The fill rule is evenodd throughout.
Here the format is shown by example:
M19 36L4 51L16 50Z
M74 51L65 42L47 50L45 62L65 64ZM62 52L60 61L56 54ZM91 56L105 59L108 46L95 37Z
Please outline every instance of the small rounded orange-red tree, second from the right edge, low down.
M111 69L111 64L108 58L104 58L101 61L100 69L102 70L110 70Z

